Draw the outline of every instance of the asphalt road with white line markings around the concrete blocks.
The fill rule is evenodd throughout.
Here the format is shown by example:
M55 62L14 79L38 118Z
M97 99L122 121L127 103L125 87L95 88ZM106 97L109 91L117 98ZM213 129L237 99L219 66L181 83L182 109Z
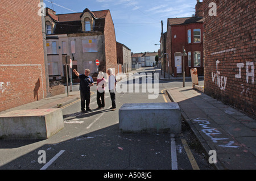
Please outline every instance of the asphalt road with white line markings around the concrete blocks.
M193 170L213 169L207 153L183 121L183 132L172 138L169 133L120 133L118 109L124 103L171 102L165 89L182 86L181 81L158 81L150 77L154 69L145 68L147 81L158 89L147 92L117 92L117 110L111 111L109 92L104 110L96 110L96 86L92 87L90 108L81 113L80 100L62 109L64 129L47 140L0 140L0 169L28 170ZM125 86L127 80L119 83ZM142 85L142 80L134 85ZM186 83L191 83L187 81ZM203 85L203 81L199 82ZM192 83L191 83L192 85ZM122 86L120 89L125 90ZM157 87L157 86L156 86ZM76 91L78 86L73 86ZM150 92L151 91L151 92ZM156 99L148 99L155 95ZM175 151L174 151L175 150ZM45 156L45 157L44 157ZM44 159L45 158L45 159ZM40 163L43 162L43 163ZM102 171L100 178L107 171ZM109 175L105 175L109 176ZM117 175L116 175L117 176ZM126 175L128 176L128 175ZM138 176L138 175L137 175ZM148 175L150 176L150 175Z

